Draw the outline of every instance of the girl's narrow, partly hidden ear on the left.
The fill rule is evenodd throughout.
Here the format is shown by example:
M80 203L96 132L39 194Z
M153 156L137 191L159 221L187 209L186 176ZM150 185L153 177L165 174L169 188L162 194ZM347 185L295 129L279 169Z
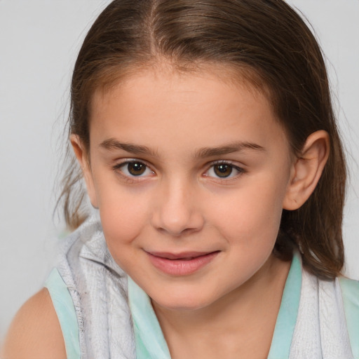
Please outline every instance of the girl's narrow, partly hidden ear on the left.
M88 153L78 135L70 135L70 142L72 144L72 148L74 149L77 161L79 161L79 165L81 166L91 204L93 207L98 208L95 185L93 182L93 173L91 171Z

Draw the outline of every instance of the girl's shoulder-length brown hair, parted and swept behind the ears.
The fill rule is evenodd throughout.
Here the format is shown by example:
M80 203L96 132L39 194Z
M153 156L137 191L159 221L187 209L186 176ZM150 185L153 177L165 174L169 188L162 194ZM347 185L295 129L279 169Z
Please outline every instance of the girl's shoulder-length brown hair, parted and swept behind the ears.
M344 264L346 163L323 56L302 18L282 0L112 1L91 27L76 60L70 133L88 146L94 91L161 58L182 70L223 64L259 81L294 153L314 131L329 133L330 157L323 175L299 210L283 211L275 252L288 259L296 244L307 269L323 278L337 276ZM83 192L74 191L80 179L72 160L60 197L71 228L83 220Z

